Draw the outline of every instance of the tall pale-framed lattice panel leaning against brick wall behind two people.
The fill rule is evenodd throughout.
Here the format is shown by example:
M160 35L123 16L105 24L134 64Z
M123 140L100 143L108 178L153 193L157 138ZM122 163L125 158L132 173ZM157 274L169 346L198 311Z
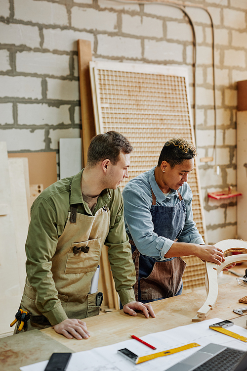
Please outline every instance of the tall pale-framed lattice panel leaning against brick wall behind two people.
M129 179L157 164L167 139L183 137L194 142L185 68L90 62L90 77L96 133L118 131L134 147ZM126 183L127 180L122 182L122 189ZM205 239L197 166L189 175L188 183L193 192L194 220ZM190 265L188 258L187 263L186 271L189 273L189 267L193 271L193 264ZM204 263L194 266L195 275L188 282L185 279L186 288L190 281L194 287L198 274L201 283L203 266Z

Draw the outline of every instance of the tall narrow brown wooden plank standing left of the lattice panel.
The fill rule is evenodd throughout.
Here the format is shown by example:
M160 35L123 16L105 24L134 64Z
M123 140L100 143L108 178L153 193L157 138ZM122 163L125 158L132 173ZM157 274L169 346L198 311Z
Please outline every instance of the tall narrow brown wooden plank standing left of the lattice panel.
M87 40L78 40L77 47L82 114L82 166L85 166L89 142L95 136L89 77L89 61L92 60L92 51L91 43Z

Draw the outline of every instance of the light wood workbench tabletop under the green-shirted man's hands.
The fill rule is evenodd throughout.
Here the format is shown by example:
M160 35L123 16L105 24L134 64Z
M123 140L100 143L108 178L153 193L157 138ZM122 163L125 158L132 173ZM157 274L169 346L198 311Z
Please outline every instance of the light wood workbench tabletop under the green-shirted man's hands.
M247 315L239 316L233 312L233 309L246 306L238 301L246 294L246 288L237 282L219 285L218 300L206 319L217 317L222 320L232 320L236 325L246 327ZM86 322L90 332L90 338L87 340L67 339L50 327L41 331L74 352L80 352L130 339L130 335L140 337L152 332L192 324L192 318L195 317L205 299L206 289L202 289L155 301L152 307L156 318L147 319L141 313L138 313L137 317L131 317L124 314L123 310L86 318L83 321Z

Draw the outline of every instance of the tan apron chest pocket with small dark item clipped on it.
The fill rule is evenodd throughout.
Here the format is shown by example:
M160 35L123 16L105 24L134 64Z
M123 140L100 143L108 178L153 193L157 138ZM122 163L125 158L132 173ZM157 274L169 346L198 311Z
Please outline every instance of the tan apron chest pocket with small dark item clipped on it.
M73 242L68 252L65 274L95 272L100 259L101 238Z

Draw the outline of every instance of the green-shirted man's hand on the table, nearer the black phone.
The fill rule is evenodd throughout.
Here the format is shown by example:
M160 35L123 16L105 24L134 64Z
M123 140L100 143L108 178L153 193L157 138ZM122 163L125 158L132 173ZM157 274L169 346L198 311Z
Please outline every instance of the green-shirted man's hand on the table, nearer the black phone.
M72 318L68 318L60 322L60 324L54 325L53 328L57 333L64 335L68 339L75 338L77 340L82 340L90 336L86 328L86 323Z

